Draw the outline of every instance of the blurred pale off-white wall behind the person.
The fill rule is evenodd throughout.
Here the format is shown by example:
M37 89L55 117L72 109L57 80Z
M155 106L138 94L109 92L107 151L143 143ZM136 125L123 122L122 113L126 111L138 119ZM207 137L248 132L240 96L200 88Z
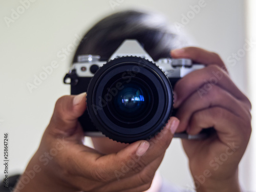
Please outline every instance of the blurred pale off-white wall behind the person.
M9 175L24 171L37 150L55 101L70 94L70 87L63 84L62 79L71 64L74 41L80 40L99 19L116 11L142 8L164 15L169 23L182 24L181 29L189 34L195 46L222 57L233 81L255 106L256 13L253 8L256 5L253 0L23 2L27 1L0 0L0 143L4 143L4 133L9 133ZM196 5L204 6L195 11ZM186 23L184 16L190 17ZM243 51L248 41L252 42L251 49ZM67 48L69 51L63 53ZM234 54L238 56L234 58ZM38 81L36 88L29 90L27 84L33 84L36 76L52 62L57 62L57 68ZM252 117L255 117L254 109ZM239 176L245 191L256 191L255 139L253 131L240 164ZM86 142L90 145L90 138ZM1 144L0 159L4 158L3 151ZM2 162L0 170L3 178ZM180 139L174 139L169 146L160 173L181 187L193 187Z

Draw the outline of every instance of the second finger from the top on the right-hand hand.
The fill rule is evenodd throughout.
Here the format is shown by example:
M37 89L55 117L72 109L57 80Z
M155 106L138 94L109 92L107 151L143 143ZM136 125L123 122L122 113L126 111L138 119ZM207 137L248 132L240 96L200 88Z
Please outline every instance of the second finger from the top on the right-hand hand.
M229 76L216 65L191 72L176 83L174 88L176 94L175 108L178 108L195 91L203 96L212 89L212 85L221 87L237 99L247 103L249 109L251 108L248 98L237 88Z

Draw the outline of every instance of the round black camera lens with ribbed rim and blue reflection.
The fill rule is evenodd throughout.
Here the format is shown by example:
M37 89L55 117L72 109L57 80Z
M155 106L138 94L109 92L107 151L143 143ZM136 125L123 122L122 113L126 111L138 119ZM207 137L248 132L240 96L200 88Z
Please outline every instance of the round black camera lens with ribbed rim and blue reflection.
M166 75L139 57L120 57L102 66L87 91L87 109L95 127L109 138L132 143L161 131L173 108Z

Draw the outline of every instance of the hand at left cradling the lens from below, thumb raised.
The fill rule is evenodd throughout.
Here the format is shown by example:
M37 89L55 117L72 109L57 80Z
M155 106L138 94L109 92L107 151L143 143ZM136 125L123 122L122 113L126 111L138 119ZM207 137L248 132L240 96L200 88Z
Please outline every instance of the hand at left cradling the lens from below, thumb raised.
M115 154L83 145L77 121L86 110L86 94L63 96L55 105L40 146L15 187L18 191L143 191L151 186L179 120L170 118L161 133Z

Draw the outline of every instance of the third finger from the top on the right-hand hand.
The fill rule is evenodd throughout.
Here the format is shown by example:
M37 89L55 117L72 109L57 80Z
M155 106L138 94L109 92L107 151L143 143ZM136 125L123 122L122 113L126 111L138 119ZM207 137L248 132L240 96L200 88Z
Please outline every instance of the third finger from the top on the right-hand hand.
M176 114L176 117L180 119L177 132L186 130L189 119L193 113L213 106L219 106L243 119L249 116L249 111L245 109L244 103L234 98L230 93L220 87L212 86L211 90L201 98L197 92L194 92L182 102Z

